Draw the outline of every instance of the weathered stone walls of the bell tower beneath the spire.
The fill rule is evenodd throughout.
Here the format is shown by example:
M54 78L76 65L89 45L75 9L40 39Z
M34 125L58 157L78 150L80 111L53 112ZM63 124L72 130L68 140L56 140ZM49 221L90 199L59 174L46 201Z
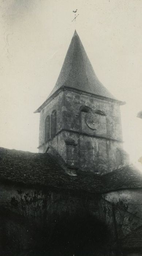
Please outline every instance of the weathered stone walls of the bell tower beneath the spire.
M81 111L84 106L88 107L89 113ZM57 112L57 131L54 138L50 136L49 141L45 143L45 120L46 116L51 117L53 110ZM99 111L103 115L98 114ZM90 128L93 124L90 123L89 126L89 121L86 121L90 114L92 116L97 115L95 129ZM76 158L76 166L81 170L101 172L123 164L124 159L118 162L117 158L118 149L122 150L119 104L98 99L93 95L88 97L88 95L78 91L68 89L61 91L41 111L39 152L45 153L47 148L51 146L67 162L65 140L68 139L72 139L76 143L77 156L74 155L74 157Z

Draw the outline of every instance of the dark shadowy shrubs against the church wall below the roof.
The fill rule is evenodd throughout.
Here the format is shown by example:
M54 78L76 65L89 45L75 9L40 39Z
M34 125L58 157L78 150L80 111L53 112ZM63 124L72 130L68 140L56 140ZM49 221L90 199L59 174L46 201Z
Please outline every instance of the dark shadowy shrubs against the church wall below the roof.
M128 211L128 204L101 199L94 214L87 200L76 211L68 200L60 204L61 197L54 199L50 192L18 191L0 207L1 255L111 256L112 251L120 255L120 238L136 215Z

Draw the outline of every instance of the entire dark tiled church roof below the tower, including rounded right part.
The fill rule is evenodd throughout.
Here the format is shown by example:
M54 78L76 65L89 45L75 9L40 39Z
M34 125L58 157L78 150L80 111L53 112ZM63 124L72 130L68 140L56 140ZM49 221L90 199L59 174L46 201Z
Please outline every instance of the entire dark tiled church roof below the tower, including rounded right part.
M76 171L70 176L49 154L0 148L0 181L52 189L103 193L126 188L142 188L142 173L134 166L95 174Z

